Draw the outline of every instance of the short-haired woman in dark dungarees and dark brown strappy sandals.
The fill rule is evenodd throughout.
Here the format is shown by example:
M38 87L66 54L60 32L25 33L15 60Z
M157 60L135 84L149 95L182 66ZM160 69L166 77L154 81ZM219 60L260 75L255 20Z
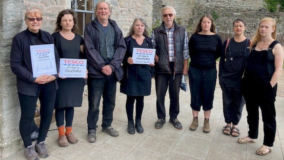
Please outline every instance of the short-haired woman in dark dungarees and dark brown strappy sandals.
M250 40L244 36L245 29L244 20L236 19L233 22L235 35L224 41L219 64L219 83L223 91L223 113L226 122L223 133L233 137L240 135L237 125L245 104L241 92L241 79L250 52Z

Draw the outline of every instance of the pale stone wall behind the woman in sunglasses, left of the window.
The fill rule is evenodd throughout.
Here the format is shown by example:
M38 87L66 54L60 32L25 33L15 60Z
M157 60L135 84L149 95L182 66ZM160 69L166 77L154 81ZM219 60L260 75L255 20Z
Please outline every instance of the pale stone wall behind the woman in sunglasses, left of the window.
M19 135L21 114L16 76L10 69L10 49L13 36L26 29L24 13L33 6L42 9L42 29L52 33L58 12L66 8L66 0L0 1L0 157L8 157L23 147Z

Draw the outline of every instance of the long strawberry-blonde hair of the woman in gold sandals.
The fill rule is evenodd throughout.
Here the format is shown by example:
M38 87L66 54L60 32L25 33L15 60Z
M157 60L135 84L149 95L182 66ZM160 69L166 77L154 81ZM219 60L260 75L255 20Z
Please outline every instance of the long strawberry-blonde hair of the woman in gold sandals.
M259 34L259 27L260 27L260 24L262 22L267 22L267 21L273 22L272 27L275 28L275 31L272 32L271 37L273 39L276 39L276 34L277 34L277 31L276 31L276 21L273 18L271 18L271 17L262 18L262 20L260 20L260 22L258 24L258 28L255 31L255 35L253 36L253 39L251 40L251 46L249 47L250 49L253 47L253 45L255 45L255 43L257 43L257 42L259 42L261 40L261 36Z

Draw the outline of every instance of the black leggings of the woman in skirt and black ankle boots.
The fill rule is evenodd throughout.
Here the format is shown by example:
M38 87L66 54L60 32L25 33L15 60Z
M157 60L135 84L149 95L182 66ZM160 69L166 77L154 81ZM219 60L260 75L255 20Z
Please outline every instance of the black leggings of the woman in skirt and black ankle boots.
M136 117L135 119L141 119L143 107L144 107L144 96L128 96L126 99L126 113L128 121L133 121L133 108L134 100L136 99Z

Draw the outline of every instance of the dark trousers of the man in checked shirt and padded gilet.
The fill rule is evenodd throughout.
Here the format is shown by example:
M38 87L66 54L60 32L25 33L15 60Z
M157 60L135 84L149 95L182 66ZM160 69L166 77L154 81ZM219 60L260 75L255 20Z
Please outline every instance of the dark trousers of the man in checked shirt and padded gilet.
M173 62L170 62L173 71ZM157 95L157 115L158 119L166 118L165 96L169 88L170 96L170 118L175 119L180 112L179 94L182 73L155 73L155 86Z

